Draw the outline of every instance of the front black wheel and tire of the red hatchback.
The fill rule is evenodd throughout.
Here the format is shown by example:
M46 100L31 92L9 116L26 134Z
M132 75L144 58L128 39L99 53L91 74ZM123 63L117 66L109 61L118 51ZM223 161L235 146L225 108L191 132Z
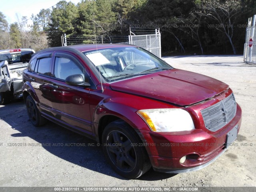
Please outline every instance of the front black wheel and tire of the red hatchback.
M102 144L107 161L123 177L135 179L151 168L148 154L138 134L122 120L106 126Z

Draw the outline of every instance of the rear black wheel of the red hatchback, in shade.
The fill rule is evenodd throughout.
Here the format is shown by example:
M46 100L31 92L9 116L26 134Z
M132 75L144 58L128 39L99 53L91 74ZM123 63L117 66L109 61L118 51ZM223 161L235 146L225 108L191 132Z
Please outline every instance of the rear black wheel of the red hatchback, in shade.
M38 127L47 123L48 120L41 116L38 108L36 107L36 103L34 102L31 96L28 96L26 98L26 107L27 107L27 112L28 112L28 117L30 119L30 122L34 126Z

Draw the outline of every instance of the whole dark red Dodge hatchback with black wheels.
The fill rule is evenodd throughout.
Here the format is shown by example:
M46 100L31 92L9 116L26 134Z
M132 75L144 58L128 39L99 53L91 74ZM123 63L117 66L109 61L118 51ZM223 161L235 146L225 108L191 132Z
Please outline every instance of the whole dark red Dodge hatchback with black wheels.
M184 173L216 160L238 134L242 111L229 86L174 69L150 52L88 44L36 52L23 72L34 126L51 120L95 139L126 178Z

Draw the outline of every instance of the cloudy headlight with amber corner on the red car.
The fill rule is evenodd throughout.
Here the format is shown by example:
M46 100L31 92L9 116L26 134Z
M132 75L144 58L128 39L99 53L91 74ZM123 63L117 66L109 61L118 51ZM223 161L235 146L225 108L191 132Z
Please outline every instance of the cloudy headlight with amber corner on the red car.
M195 128L190 114L182 109L146 109L139 110L138 114L156 132L187 131Z

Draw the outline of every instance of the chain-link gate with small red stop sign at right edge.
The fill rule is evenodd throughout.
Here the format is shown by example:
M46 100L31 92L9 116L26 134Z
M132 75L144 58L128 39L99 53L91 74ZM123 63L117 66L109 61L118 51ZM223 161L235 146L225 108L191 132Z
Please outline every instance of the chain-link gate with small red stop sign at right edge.
M244 62L256 64L256 15L248 20L244 44Z

